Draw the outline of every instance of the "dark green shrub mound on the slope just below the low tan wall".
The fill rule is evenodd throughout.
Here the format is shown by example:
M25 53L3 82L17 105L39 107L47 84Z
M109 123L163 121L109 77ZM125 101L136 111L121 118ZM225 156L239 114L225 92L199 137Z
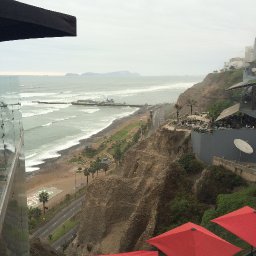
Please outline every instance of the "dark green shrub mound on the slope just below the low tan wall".
M224 167L211 166L197 188L197 198L201 202L215 204L218 194L231 193L235 187L245 185L240 176Z

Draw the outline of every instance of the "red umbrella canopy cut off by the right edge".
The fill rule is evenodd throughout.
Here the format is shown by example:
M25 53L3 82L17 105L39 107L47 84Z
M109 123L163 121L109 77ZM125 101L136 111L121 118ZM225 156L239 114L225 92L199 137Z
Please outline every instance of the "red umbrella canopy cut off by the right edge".
M248 244L256 247L256 211L245 206L239 210L212 220L240 237Z

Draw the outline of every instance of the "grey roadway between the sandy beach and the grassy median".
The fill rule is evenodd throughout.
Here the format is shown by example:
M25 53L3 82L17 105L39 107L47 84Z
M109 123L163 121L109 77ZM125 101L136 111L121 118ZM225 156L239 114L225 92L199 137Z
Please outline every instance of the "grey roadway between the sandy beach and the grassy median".
M35 231L30 238L38 237L41 239L48 238L48 236L62 223L66 220L70 219L74 215L76 215L82 206L82 201L84 200L84 196L76 199L72 203L70 203L67 207L62 209L59 213L57 213L49 222L40 227L37 231Z

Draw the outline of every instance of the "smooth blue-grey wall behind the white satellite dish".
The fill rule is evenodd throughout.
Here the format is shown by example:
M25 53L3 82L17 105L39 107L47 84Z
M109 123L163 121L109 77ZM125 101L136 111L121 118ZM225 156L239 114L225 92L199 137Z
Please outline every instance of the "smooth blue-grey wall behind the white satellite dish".
M193 152L205 163L211 164L213 157L256 163L256 129L216 130L213 133L191 133ZM234 145L234 139L247 141L254 149L253 154L241 153Z

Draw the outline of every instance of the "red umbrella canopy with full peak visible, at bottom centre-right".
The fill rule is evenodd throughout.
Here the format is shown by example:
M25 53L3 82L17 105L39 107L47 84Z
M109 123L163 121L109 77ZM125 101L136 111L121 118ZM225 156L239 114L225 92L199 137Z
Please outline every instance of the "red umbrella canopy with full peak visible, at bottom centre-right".
M231 256L241 251L240 248L191 222L147 242L168 256Z

